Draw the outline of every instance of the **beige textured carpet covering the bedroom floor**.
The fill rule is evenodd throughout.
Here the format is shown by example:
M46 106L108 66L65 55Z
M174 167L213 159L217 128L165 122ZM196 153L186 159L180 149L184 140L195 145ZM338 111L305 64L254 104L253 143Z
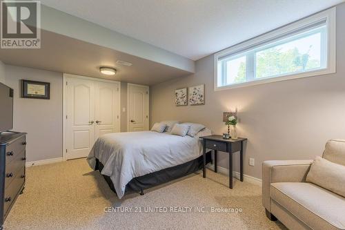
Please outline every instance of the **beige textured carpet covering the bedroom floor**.
M270 222L262 207L261 188L201 171L164 184L144 196L116 198L98 171L85 159L27 169L26 189L4 224L5 229L285 229ZM126 212L105 212L121 207ZM148 208L151 209L148 209ZM157 208L161 208L159 211ZM192 207L173 213L170 207ZM197 207L205 207L197 211ZM242 213L213 213L212 207L241 208ZM168 208L168 212L165 208ZM111 210L111 208L110 208ZM140 211L137 213L135 211ZM228 211L231 211L230 209Z

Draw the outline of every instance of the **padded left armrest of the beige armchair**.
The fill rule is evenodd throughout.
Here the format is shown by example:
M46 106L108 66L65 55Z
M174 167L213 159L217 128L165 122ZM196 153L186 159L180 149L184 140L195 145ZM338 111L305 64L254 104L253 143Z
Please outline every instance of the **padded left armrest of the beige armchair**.
M270 211L270 184L305 182L313 160L269 160L262 164L262 204Z

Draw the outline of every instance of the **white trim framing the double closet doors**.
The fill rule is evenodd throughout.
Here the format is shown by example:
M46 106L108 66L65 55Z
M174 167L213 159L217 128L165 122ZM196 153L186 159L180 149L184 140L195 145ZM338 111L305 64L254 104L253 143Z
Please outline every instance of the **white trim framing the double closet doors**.
M115 83L119 85L119 101L121 102L121 82L118 81L112 81L108 79L101 79L101 78L95 78L95 77L84 77L80 75L71 75L69 73L63 73L62 74L62 159L63 161L67 160L66 157L66 115L67 115L67 108L66 108L66 92L67 92L67 78L68 77L74 77L79 79L86 79L94 82L108 82L108 83ZM121 131L121 103L119 103L119 130Z

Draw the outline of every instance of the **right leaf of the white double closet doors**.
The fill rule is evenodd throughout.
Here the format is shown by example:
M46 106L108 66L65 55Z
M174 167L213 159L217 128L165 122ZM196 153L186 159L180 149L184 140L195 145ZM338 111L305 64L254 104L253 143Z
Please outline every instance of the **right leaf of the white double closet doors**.
M106 133L120 131L119 84L95 84L95 139Z

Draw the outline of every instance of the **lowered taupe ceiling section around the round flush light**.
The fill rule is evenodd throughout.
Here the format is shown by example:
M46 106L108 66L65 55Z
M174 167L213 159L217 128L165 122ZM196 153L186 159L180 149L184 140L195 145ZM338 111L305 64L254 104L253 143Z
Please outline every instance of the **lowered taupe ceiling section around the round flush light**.
M5 64L14 66L144 85L158 84L190 74L171 66L45 30L41 30L40 49L0 49L0 59ZM128 61L132 66L116 64L117 60ZM116 68L117 74L103 75L99 73L101 66Z

